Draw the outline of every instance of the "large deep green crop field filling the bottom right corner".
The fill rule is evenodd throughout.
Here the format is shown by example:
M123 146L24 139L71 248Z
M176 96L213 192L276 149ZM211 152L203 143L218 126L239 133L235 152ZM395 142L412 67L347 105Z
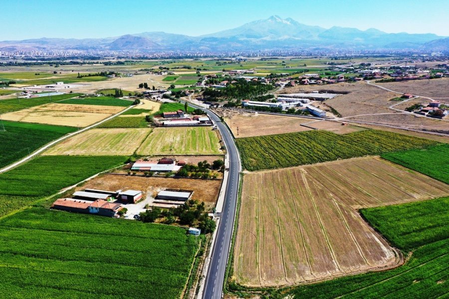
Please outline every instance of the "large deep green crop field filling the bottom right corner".
M282 289L270 298L447 298L448 204L446 197L362 210L394 246L413 250L405 265Z

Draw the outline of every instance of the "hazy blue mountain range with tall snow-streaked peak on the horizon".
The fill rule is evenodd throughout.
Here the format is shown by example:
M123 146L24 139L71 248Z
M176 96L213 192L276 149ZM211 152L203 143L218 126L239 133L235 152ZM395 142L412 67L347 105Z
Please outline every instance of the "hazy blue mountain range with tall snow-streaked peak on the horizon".
M3 51L114 50L251 51L251 50L416 50L449 51L449 38L433 33L386 33L370 28L310 26L273 15L239 27L201 36L143 32L106 38L36 38L0 41Z

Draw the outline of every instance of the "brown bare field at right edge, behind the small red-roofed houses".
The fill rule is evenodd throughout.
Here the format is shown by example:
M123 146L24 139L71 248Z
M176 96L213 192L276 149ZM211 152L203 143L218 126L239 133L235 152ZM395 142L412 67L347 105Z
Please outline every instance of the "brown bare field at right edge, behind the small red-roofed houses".
M449 99L449 78L439 78L432 80L410 80L376 84L401 93L411 93L414 95L435 99Z

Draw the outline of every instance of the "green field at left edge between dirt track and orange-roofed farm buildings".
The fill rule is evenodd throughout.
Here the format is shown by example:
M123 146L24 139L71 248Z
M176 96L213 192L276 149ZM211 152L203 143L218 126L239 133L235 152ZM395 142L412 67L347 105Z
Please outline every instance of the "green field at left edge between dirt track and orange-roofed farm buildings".
M39 156L0 173L0 216L125 160L126 156Z

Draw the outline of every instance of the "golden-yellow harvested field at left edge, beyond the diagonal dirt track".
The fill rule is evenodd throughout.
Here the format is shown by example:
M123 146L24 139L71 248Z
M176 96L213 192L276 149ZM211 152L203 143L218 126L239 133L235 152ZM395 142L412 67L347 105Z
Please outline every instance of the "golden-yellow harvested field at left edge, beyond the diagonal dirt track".
M71 127L87 127L124 107L78 104L46 104L1 115L3 120Z

